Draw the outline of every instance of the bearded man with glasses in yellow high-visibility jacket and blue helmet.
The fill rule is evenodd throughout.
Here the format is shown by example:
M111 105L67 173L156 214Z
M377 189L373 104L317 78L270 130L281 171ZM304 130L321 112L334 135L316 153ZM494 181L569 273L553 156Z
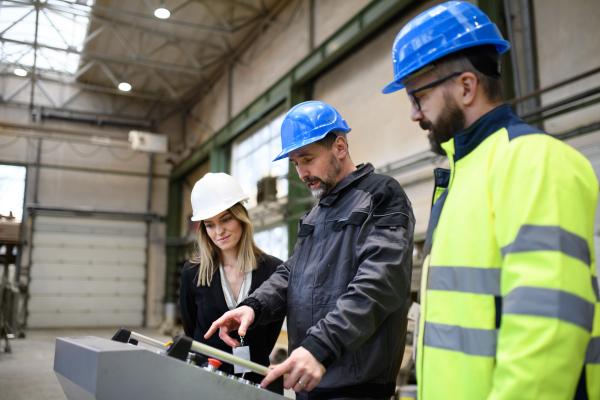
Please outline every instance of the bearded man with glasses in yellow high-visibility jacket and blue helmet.
M598 182L503 104L510 45L477 7L438 5L393 45L435 171L421 284L419 400L600 399Z

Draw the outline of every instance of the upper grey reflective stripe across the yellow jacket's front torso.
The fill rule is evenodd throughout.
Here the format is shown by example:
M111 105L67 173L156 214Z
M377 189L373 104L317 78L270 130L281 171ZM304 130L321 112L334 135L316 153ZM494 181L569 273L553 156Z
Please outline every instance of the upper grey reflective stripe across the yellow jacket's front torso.
M429 267L427 289L500 296L500 268Z

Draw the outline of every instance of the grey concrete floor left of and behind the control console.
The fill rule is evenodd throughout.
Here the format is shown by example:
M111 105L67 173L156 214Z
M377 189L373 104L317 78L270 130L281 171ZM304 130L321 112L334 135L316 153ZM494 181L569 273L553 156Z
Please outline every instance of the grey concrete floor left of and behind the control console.
M10 341L12 353L0 349L0 400L66 400L54 374L54 343L62 336L96 336L110 339L119 328L30 330L25 339ZM162 342L171 338L156 329L136 332Z

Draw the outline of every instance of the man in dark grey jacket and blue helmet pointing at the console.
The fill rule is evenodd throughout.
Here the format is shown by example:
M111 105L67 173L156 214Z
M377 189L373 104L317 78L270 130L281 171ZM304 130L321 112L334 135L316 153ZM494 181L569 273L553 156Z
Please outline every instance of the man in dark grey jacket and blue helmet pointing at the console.
M276 160L289 157L319 202L292 257L207 333L238 346L232 330L287 316L290 357L263 386L289 373L298 399L389 400L404 354L415 220L396 180L352 163L349 131L322 102L287 113Z

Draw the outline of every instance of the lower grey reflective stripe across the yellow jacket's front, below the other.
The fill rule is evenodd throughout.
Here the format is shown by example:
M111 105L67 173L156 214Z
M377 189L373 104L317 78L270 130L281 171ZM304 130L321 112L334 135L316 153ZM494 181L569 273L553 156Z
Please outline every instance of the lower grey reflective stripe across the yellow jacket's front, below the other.
M496 329L463 328L457 325L425 321L423 344L438 349L496 357L498 331Z

